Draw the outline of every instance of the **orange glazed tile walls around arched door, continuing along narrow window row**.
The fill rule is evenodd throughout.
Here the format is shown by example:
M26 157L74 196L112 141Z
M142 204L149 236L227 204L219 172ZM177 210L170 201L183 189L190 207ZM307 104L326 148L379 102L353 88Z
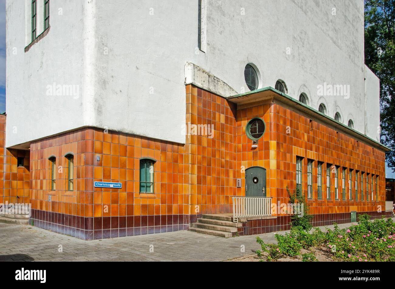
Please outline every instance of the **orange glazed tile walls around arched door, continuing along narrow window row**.
M337 133L317 122L310 122L278 103L236 109L235 104L193 85L186 86L187 124L213 125L214 137L189 135L186 153L190 153L191 208L198 205L199 212L232 212L231 196L245 195L245 169L260 166L267 169L267 196L273 203L288 203L286 191L296 188L296 157L303 157L303 192L307 197L307 161L313 163L313 198L308 200L312 214L340 214L377 212L385 208L385 153L373 149L355 139ZM257 142L258 148L247 138L245 127L249 120L260 117L265 121L266 132ZM288 133L287 133L288 132ZM317 165L323 162L323 199L317 195ZM339 199L335 200L335 174L331 174L331 200L326 199L326 164L339 166ZM379 176L378 202L375 180L373 201L361 201L359 197L348 200L348 174L346 174L346 200L342 200L342 168ZM346 171L348 173L348 170ZM236 188L236 178L242 179L242 187ZM211 186L209 186L211 184ZM366 185L366 184L365 184ZM365 189L366 191L366 189ZM371 192L370 192L371 194ZM366 199L366 192L365 192ZM380 207L381 206L381 207Z

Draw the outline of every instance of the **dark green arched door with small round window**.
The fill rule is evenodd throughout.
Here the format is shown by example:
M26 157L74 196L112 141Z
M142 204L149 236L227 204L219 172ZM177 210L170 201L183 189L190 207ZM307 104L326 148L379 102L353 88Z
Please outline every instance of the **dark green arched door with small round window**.
M246 197L266 197L266 169L246 169Z

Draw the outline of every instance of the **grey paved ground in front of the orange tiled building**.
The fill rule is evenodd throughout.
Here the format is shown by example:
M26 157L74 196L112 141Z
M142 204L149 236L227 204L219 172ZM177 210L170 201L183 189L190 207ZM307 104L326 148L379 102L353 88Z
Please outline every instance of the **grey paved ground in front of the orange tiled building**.
M260 237L273 243L274 235ZM258 249L256 236L226 239L179 231L84 241L37 227L0 223L0 261L225 261Z

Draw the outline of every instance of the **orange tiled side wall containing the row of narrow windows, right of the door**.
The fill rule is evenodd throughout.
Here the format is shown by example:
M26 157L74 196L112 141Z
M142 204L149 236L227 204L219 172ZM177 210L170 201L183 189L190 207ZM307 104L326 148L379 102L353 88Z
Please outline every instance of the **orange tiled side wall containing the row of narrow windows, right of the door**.
M307 116L301 116L278 104L273 105L272 117L276 120L276 149L277 149L277 173L280 175L280 184L286 184L291 190L295 189L296 157L303 157L303 185L302 190L307 196L307 160L313 163L313 197L309 200L312 214L332 214L357 212L377 212L379 208L385 208L385 152L374 149L362 142L338 133L317 122L310 122ZM290 133L287 134L287 126ZM323 200L317 195L317 165L318 161L323 165ZM335 200L335 173L331 172L331 196L326 196L326 165L339 166L339 200ZM346 200L342 199L342 169L346 169ZM348 169L354 171L352 175L352 200L348 196ZM281 174L281 171L284 171ZM371 176L379 176L378 201L374 186L373 200L361 200L361 178L359 176L358 201L355 201L355 171L369 174L369 186ZM291 178L284 177L285 175ZM366 186L366 181L364 182ZM280 197L286 198L284 187L278 186ZM369 191L371 195L371 189ZM379 207L381 206L381 207Z

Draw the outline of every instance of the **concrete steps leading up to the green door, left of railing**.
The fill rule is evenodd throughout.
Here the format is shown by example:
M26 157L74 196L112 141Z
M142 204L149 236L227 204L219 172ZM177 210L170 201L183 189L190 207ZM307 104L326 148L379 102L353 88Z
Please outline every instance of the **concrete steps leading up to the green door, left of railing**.
M201 218L192 223L189 231L230 238L237 234L237 228L242 223L233 223L233 217L229 214L203 214Z

